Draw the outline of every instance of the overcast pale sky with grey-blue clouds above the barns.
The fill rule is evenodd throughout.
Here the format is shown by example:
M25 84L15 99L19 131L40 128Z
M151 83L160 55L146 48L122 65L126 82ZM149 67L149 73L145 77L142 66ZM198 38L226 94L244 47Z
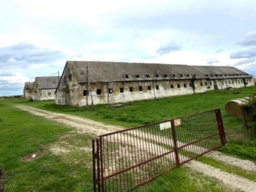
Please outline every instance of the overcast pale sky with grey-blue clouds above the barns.
M256 1L3 0L0 96L67 60L234 66L256 76Z

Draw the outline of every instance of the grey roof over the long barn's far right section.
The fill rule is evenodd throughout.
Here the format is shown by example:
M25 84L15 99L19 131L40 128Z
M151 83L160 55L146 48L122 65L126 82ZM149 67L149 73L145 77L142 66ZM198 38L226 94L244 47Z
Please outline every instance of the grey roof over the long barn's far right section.
M235 67L218 67L218 66L195 66L190 67L195 68L198 72L205 74L209 79L232 79L232 78L243 78L252 77L250 74L246 74L242 70Z

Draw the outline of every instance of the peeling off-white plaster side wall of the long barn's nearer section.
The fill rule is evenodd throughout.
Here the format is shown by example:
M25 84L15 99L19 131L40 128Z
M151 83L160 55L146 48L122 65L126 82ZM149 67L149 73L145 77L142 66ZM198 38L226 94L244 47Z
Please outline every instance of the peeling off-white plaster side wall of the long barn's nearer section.
M90 87L90 93L92 93L94 104L112 104L116 102L129 102L131 100L145 100L193 94L193 88L189 86L189 83L191 83L190 80L93 83ZM173 85L173 88L171 88L171 84ZM184 84L186 84L186 88L184 87ZM141 91L140 86L142 88ZM157 86L159 88L158 90ZM120 88L124 89L123 93L120 93ZM111 92L109 92L109 89L111 89ZM83 95L84 90L86 90L86 84L79 84L76 88L71 89L72 102L70 105L78 107L86 106L86 96ZM97 90L101 90L101 94L98 95ZM92 99L91 95L88 95L88 104L92 103Z

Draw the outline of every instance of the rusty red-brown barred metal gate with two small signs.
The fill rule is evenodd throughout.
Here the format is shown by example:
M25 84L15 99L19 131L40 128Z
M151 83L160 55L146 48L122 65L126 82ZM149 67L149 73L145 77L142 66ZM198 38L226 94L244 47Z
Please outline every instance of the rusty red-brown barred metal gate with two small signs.
M94 191L129 191L225 143L220 109L102 134L92 142Z

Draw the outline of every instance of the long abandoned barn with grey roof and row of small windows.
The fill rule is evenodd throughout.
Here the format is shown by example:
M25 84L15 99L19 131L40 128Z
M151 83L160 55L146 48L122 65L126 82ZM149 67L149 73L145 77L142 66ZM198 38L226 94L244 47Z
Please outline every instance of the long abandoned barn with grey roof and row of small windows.
M56 104L82 107L253 86L235 67L67 61Z

